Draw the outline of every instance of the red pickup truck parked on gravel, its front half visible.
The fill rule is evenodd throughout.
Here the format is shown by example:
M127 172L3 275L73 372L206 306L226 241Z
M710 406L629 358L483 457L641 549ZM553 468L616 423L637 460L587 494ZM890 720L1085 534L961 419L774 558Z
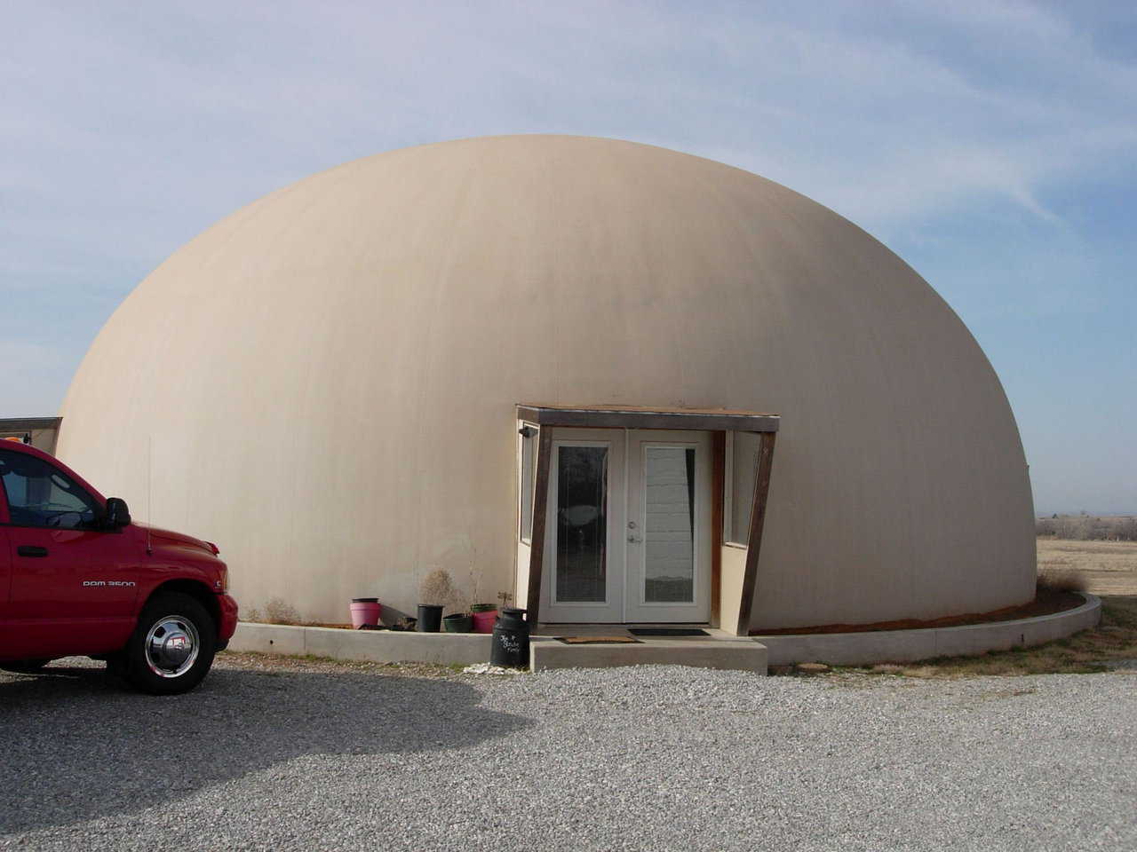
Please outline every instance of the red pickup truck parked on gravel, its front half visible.
M0 669L106 660L144 692L197 686L236 628L217 546L131 521L58 459L0 441Z

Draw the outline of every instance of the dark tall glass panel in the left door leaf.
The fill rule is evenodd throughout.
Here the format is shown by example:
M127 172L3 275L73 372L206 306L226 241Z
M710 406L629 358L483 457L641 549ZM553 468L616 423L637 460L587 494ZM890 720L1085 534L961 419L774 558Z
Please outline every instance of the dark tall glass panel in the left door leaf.
M606 600L608 448L557 448L557 601Z

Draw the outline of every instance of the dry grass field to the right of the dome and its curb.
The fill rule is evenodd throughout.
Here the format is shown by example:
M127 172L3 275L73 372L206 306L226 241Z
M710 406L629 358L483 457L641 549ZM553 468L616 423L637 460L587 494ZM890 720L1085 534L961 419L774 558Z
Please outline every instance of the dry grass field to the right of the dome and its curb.
M1102 623L1038 648L856 670L907 677L1041 675L1105 671L1137 665L1137 542L1038 540L1040 577L1078 584L1102 599Z

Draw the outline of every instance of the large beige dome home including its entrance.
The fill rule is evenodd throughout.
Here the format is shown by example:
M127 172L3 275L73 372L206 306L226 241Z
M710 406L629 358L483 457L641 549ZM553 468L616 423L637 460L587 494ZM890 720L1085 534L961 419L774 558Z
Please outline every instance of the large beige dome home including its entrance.
M1019 433L958 317L824 207L641 144L273 193L139 285L61 415L64 460L306 620L413 612L434 568L545 623L738 633L1034 595Z

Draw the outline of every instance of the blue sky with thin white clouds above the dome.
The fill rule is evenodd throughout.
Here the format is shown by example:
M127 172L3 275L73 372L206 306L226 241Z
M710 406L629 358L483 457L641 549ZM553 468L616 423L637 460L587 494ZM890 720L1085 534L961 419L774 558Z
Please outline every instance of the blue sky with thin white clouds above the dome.
M1036 508L1137 512L1132 3L41 1L0 48L0 417L55 412L131 289L274 189L578 133L866 228L984 346Z

